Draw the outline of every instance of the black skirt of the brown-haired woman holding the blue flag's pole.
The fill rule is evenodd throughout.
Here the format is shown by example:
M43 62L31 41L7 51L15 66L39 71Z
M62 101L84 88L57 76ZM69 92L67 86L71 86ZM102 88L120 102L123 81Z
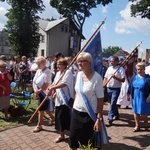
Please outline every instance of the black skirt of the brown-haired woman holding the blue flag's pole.
M66 105L55 107L55 129L64 132L70 129L70 109Z

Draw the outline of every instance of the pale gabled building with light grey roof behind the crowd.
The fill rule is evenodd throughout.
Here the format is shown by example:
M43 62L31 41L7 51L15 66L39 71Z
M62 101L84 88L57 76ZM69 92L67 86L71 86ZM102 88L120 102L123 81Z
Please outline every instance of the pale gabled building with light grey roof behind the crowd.
M79 51L79 30L68 18L54 21L39 20L39 33L41 37L37 56L46 57L56 52L68 56Z

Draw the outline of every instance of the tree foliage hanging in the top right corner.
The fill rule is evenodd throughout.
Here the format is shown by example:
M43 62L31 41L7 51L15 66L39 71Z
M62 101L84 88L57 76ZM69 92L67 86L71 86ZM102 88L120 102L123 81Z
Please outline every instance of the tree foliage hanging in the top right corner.
M131 5L131 16L141 16L150 19L150 0L130 0L136 2Z

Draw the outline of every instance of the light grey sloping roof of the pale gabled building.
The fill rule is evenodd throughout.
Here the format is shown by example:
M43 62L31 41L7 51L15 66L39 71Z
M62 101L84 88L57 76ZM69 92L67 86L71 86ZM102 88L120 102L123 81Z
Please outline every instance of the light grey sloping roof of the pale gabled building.
M42 30L48 31L55 27L56 25L60 24L61 22L65 21L67 18L57 19L54 21L48 21L48 20L39 20L39 26Z

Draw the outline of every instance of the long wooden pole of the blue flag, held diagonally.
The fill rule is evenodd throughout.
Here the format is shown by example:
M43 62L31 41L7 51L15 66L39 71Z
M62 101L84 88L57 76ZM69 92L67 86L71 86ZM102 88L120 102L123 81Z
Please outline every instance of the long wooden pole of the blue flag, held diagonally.
M90 43L90 41L92 40L92 38L94 37L94 35L100 30L100 27L105 23L106 18L102 21L102 23L98 26L98 28L96 29L96 31L92 34L92 36L90 37L90 39L87 41L87 43L84 45L84 47L76 54L76 56L73 58L73 60L71 61L71 63L69 64L69 66L64 70L63 74L60 76L59 80L57 81L57 83L55 85L57 85L59 83L59 81L63 78L66 70L68 68L70 68L74 62L76 61L78 55L85 49L85 47ZM39 109L42 107L42 105L44 104L44 102L47 100L48 96L46 96L43 101L41 102L41 104L38 106L38 108L35 110L35 112L33 113L33 115L30 117L30 119L28 120L28 123L30 123L32 121L32 119L35 117L35 115L38 113Z

